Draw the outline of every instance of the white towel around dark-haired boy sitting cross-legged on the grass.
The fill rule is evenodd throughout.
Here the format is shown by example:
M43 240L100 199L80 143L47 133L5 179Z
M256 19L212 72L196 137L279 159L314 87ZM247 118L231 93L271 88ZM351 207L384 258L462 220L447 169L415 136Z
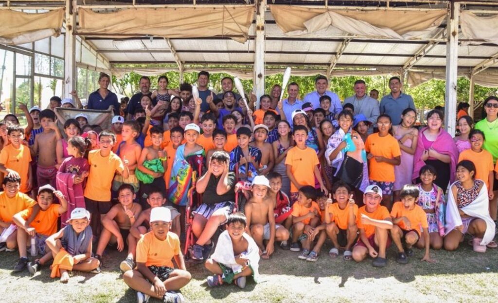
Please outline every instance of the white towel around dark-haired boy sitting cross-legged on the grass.
M254 242L254 240L246 232L244 232L243 237L249 242L246 257L249 260L252 270L254 271L254 281L256 281L259 274L259 247L257 247L256 242ZM218 263L230 266L234 271L234 274L238 274L242 271L242 265L235 261L234 246L228 230L225 230L220 234L215 252L211 255L211 258Z

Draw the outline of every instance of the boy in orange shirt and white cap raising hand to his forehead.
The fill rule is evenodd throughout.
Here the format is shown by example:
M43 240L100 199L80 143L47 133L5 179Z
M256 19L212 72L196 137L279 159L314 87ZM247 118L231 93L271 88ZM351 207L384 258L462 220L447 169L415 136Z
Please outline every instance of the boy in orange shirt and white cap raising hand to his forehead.
M60 204L53 204L55 197L59 198ZM12 217L12 221L18 226L17 241L19 244L23 244L19 245L19 257L22 260L17 263L14 272L22 271L26 267L28 259L25 243L29 242L30 237L34 237L36 251L43 255L43 257L27 264L29 273L34 275L43 264L52 259L52 252L45 249L45 240L57 232L57 220L61 214L67 211L66 198L50 184L46 184L38 189L36 201L38 203L38 210L36 210L38 213L31 220L31 223L27 221L29 221L28 218L30 218L31 214L35 212L33 210L35 206L27 208Z

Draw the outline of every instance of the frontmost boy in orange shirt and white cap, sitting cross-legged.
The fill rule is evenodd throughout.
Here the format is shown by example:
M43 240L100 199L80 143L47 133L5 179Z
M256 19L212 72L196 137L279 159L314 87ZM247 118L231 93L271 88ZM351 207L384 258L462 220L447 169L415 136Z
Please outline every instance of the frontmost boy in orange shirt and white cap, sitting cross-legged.
M180 239L169 231L171 213L165 207L150 211L151 231L136 244L136 269L123 275L124 283L137 292L138 302L148 302L150 297L164 302L184 302L180 290L192 279L185 268L180 249ZM172 259L178 265L173 266Z

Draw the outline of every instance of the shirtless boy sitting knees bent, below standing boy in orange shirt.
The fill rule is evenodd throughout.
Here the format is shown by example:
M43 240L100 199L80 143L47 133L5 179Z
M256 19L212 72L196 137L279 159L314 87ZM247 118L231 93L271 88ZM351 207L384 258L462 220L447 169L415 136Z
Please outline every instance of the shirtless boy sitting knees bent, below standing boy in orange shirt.
M102 230L97 245L95 257L102 260L104 249L109 243L118 243L118 250L123 251L125 246L128 247L126 259L120 265L123 271L133 268L133 256L136 249L136 239L129 233L129 229L135 218L140 214L142 207L138 203L133 203L135 199L135 190L131 184L122 184L118 189L118 201L111 210L102 218ZM127 245L126 245L127 244Z

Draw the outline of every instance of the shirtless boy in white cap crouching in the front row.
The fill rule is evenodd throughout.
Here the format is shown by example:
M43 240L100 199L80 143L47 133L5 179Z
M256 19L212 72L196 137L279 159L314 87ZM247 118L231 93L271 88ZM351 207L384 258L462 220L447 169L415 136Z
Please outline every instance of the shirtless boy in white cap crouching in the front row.
M245 207L248 224L246 232L256 241L262 259L269 259L275 240L285 244L289 239L289 231L275 224L274 201L267 195L269 187L270 182L265 176L255 176L252 179L252 197ZM263 240L267 241L266 246Z

